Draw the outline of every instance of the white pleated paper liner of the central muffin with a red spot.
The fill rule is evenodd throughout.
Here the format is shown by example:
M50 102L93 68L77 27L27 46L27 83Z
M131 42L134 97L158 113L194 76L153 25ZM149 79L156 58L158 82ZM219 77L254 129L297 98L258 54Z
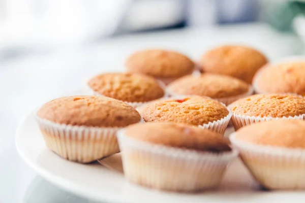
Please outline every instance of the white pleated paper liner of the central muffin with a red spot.
M168 98L162 98L162 99L183 99L183 98L186 98L188 96L191 96L191 95L176 95L176 96L171 96L171 97L168 97ZM207 96L205 96L207 97ZM209 98L209 97L208 97ZM221 103L224 107L226 107L225 104ZM141 110L141 107L140 108L137 108L137 111L140 112ZM232 116L232 113L229 111L229 109L226 107L226 109L228 110L228 115L220 120L216 120L216 121L213 121L213 122L208 122L208 123L205 123L205 124L202 124L202 125L198 125L199 128L203 128L203 129L209 129L209 130L212 130L212 131L215 131L215 132L218 132L222 135L224 135L226 129L227 129L227 126L230 122L230 119L231 119L231 116Z

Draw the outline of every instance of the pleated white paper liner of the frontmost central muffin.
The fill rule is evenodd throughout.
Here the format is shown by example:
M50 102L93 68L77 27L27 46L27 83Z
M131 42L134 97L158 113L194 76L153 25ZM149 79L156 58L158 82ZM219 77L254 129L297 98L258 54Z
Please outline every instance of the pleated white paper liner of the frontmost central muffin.
M125 177L160 190L193 192L217 187L237 151L213 154L137 141L118 132Z

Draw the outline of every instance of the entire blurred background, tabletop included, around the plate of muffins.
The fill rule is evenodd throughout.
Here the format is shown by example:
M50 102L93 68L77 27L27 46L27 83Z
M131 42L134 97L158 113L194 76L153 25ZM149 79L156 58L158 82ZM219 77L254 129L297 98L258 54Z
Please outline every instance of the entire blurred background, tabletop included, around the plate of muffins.
M135 50L169 48L196 60L227 43L271 61L304 55L305 1L0 0L0 202L89 202L18 156L14 133L33 108L97 73L124 71Z

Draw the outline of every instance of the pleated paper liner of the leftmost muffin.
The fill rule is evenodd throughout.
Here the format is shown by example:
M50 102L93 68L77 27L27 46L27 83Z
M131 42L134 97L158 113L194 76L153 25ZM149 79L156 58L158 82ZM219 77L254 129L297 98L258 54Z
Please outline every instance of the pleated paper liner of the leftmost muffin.
M38 116L36 121L47 147L65 159L87 163L119 152L116 131L120 127L72 126Z

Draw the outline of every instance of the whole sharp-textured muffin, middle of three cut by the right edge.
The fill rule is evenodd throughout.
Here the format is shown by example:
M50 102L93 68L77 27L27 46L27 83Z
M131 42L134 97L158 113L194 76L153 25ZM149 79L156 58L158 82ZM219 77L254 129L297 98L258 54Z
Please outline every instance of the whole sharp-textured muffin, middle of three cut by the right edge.
M305 98L292 94L256 94L228 106L235 129L266 120L305 117Z

